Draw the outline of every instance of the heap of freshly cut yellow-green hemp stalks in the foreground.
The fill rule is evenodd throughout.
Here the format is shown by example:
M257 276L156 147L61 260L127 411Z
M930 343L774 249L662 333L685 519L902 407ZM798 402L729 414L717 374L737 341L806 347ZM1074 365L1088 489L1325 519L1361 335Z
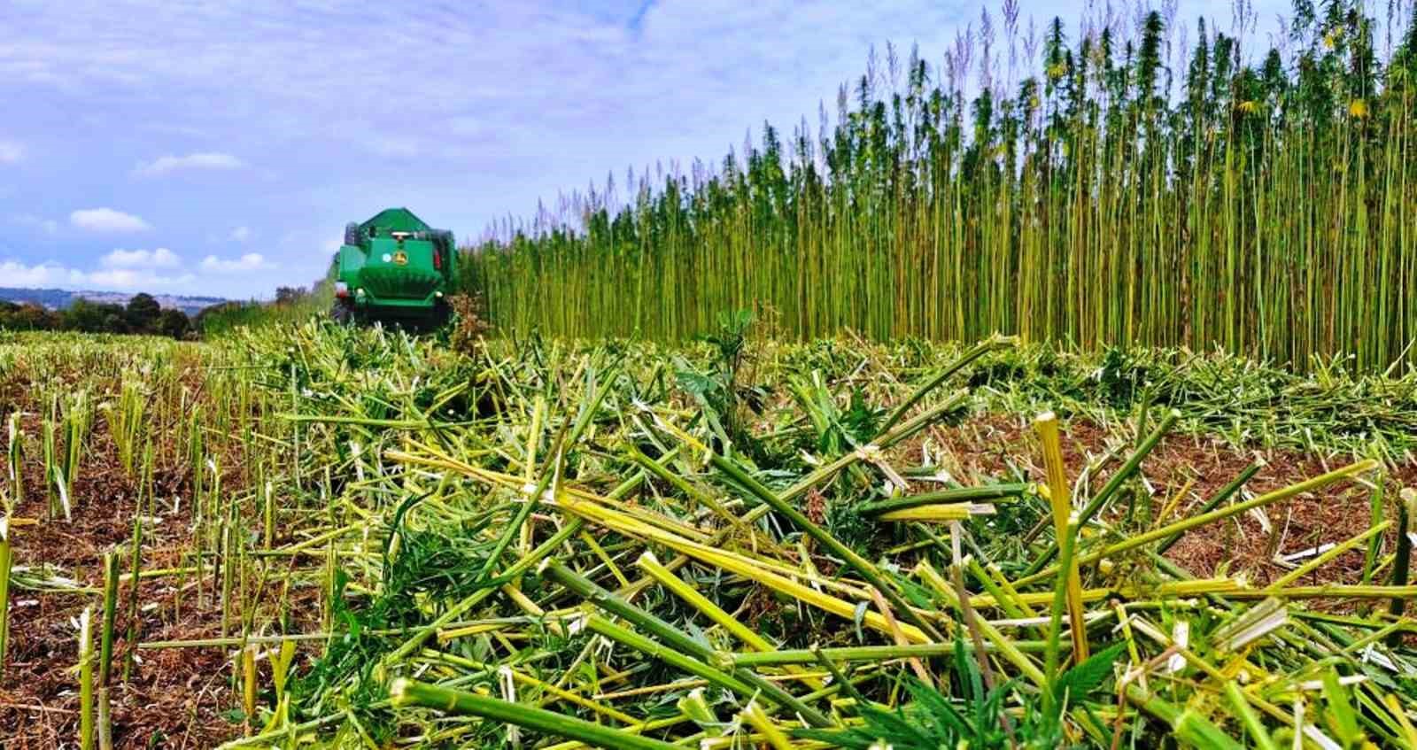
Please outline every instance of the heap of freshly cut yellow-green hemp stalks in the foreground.
M1007 346L986 342L938 371ZM404 598L407 627L354 637L360 664L305 699L309 722L327 720L310 732L558 749L1417 743L1401 642L1414 622L1389 607L1417 594L1394 567L1406 543L1383 542L1363 583L1321 586L1299 581L1318 566L1250 586L1156 553L1301 493L1366 510L1366 488L1384 482L1376 461L1141 522L1121 503L1145 493L1155 438L1108 464L1111 479L1078 483L1046 414L1046 472L935 476L922 491L905 479L927 474L918 447L969 403L948 377L850 414L815 377L754 413L694 380L714 373L682 369L686 390L700 388L684 403L660 364L646 377L635 359L560 347L540 364L487 359L476 387L497 394L495 417L366 422L384 449L360 452L370 478L336 505L360 498L360 523L378 532L334 556L384 573L334 607L357 632L361 612ZM289 421L359 424L333 417ZM1158 437L1173 422L1159 420ZM784 461L788 447L799 455ZM1009 554L990 539L1006 517L1046 530ZM456 584L393 590L428 534L458 537L463 567L415 578ZM884 552L911 540L928 543ZM1309 608L1333 603L1346 614ZM336 639L316 671L339 651ZM232 744L302 732L275 724Z

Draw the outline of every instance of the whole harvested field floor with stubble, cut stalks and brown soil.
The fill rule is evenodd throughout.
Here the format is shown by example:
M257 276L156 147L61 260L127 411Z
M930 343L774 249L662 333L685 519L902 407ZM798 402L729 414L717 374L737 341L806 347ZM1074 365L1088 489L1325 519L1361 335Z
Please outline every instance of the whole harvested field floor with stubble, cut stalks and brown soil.
M7 726L115 747L135 723L230 747L1414 741L1413 376L743 323L694 345L323 322L0 340L24 394L10 600L101 614L81 675L33 656L75 664L72 635L11 611L0 689L77 713ZM971 432L999 420L1016 432ZM1268 461L1207 498L1199 462L1244 451ZM17 489L45 475L72 520ZM1360 523L1277 515L1315 503ZM1272 552L1186 552L1236 533ZM191 675L196 713L133 702L186 700Z

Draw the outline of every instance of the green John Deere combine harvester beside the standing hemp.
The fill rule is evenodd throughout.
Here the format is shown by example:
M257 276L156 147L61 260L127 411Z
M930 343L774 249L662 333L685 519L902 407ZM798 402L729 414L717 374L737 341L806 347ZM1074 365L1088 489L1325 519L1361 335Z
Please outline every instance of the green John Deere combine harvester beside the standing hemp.
M448 320L456 247L408 208L385 208L344 227L336 255L336 320L432 328Z

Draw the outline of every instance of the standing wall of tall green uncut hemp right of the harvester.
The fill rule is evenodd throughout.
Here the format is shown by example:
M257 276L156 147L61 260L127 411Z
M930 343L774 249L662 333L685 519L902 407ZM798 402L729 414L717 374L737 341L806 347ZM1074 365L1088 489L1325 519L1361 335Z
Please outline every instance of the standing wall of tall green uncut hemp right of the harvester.
M888 47L835 119L495 223L462 284L519 336L684 339L754 309L802 339L1411 362L1417 21L1384 45L1373 6L1308 7L1268 50L1163 11L1023 34L1017 7L942 65ZM1003 43L1030 62L1000 69Z

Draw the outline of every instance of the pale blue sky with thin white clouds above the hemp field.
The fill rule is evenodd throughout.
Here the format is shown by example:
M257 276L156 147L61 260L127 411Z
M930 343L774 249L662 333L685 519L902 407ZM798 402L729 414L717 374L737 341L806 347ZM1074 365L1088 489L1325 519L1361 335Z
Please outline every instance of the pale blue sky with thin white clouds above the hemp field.
M1020 6L1074 38L1088 7ZM470 241L764 121L815 129L873 45L937 65L983 7L0 0L0 286L269 298L390 206ZM1287 7L1254 1L1261 34ZM1192 40L1197 16L1230 3L1179 0Z

